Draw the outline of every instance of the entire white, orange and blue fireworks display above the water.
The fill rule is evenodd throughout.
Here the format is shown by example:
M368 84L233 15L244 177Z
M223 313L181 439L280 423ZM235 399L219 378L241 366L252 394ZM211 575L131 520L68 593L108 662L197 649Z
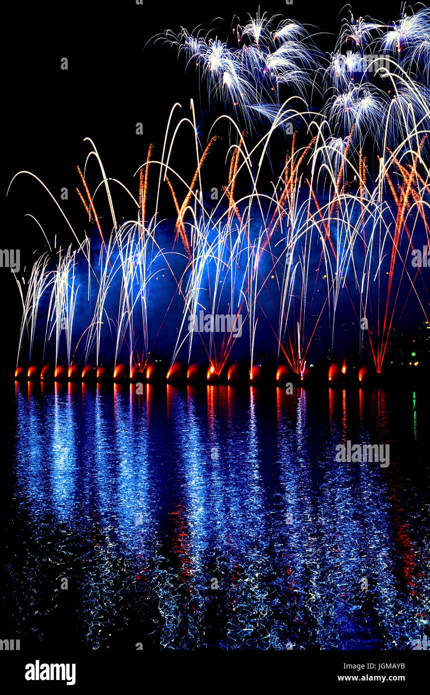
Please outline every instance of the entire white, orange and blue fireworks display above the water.
M140 167L138 195L123 186L135 220L117 223L110 179L89 140L99 178L90 184L89 172L78 170L78 195L97 238L85 235L75 249L50 247L28 281L17 278L18 369L27 341L33 370L52 355L58 374L64 365L74 375L82 364L83 375L94 366L100 377L112 369L116 379L135 378L155 375L165 363L173 378L203 360L210 379L224 370L233 378L231 365L245 359L246 342L255 380L258 342L268 335L276 362L303 378L317 334L324 333L329 352L338 347L342 304L356 326L359 353L367 350L381 372L406 303L416 302L429 321L426 279L410 262L415 248L429 248L428 66L420 79L417 70L428 56L428 10L402 15L392 26L351 17L330 56L303 26L285 20L275 26L265 15L250 18L235 36L236 45L184 29L165 34L196 67L209 99L233 111L213 124L226 124L231 142L220 199L208 205L202 193L216 138L211 133L201 147L193 102L173 135L172 109L160 158L151 146ZM349 44L354 51L345 55ZM383 77L372 68L377 60L365 59L365 51L378 50L388 65ZM320 111L306 104L310 93L320 95ZM262 121L268 122L263 133ZM189 183L171 165L182 124L192 126L197 163ZM275 136L292 124L285 165L267 193L261 172ZM251 193L238 197L239 183ZM107 231L93 202L100 186L112 219ZM166 191L177 213L170 233L159 210ZM207 331L196 322L200 315L212 317ZM215 316L230 317L227 332L217 331ZM241 343L242 324L247 341ZM158 343L169 346L163 358L156 357Z

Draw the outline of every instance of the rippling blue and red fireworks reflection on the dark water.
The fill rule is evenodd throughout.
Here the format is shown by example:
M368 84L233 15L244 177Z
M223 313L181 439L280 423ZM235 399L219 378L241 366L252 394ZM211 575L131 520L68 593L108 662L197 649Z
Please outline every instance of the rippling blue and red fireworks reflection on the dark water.
M429 620L430 545L415 394L399 434L411 400L17 386L20 552L5 596L17 634L45 643L60 625L92 648L411 648ZM390 443L390 467L336 462L348 439Z

